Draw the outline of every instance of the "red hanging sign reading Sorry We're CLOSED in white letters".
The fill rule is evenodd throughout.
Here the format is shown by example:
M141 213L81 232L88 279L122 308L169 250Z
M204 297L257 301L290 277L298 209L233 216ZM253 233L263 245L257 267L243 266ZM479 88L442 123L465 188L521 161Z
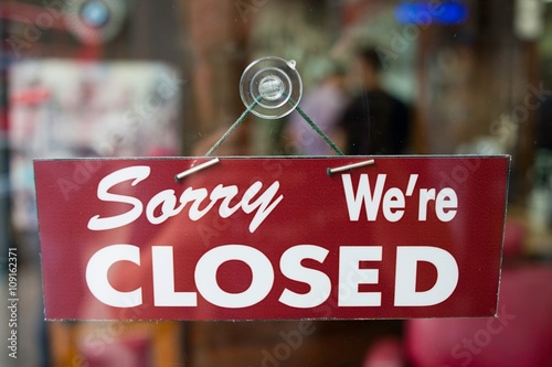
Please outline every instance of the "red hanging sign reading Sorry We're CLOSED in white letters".
M497 311L506 155L39 160L34 168L49 320Z

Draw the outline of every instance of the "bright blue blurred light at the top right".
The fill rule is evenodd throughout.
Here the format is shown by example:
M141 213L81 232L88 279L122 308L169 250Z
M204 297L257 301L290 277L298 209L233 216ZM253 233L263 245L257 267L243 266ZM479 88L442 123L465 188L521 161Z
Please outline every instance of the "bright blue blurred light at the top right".
M442 1L438 7L428 1L403 2L395 8L395 19L405 24L459 24L468 18L468 8L458 1Z

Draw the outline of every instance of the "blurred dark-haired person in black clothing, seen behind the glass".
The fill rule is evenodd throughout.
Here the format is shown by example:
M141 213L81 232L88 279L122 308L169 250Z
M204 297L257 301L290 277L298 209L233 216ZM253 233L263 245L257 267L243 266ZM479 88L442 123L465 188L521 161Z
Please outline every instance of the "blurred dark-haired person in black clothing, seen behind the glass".
M383 65L374 48L361 51L355 66L360 90L344 109L333 140L348 155L405 153L411 132L410 107L382 88Z

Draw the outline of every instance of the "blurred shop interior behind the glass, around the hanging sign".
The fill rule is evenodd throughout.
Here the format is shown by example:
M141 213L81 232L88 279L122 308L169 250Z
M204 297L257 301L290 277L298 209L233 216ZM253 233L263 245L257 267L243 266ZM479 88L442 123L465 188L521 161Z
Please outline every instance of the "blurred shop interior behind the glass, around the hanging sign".
M552 365L552 1L22 0L0 3L0 32L1 266L17 246L22 366ZM201 156L244 111L256 58L296 61L304 102L336 71L352 98L365 47L410 106L405 153L512 156L503 332L316 321L296 345L298 321L42 321L33 158ZM250 116L216 154L314 154L294 119Z

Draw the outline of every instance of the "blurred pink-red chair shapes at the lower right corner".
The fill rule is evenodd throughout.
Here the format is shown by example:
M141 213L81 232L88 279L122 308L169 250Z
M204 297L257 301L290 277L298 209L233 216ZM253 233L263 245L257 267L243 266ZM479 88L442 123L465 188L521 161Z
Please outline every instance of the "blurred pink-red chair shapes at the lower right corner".
M505 260L522 238L507 226ZM405 339L414 367L552 366L552 266L505 263L498 317L412 320Z

